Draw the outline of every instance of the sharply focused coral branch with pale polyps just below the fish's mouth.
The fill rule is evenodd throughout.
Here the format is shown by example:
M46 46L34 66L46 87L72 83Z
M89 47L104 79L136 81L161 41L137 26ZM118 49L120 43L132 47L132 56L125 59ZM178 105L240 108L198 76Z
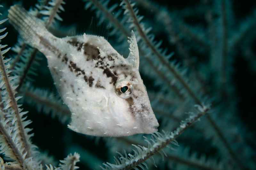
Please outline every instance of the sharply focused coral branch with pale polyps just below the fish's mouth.
M135 154L131 155L125 153L123 156L120 154L121 157L119 157L119 160L116 160L116 164L103 164L106 166L106 168L102 169L122 169L122 170L129 170L133 169L137 166L143 167L142 165L145 165L145 161L152 156L154 156L156 153L161 152L161 150L165 147L167 147L170 143L173 143L174 145L178 145L175 139L179 137L188 127L190 127L194 122L196 122L200 117L202 117L206 112L210 109L208 106L197 106L198 107L198 113L195 113L191 115L189 118L187 118L185 121L182 121L180 124L180 127L178 127L175 131L169 133L164 132L164 134L156 132L153 134L154 139L152 139L152 143L149 142L149 140L146 139L148 142L148 147L140 146L140 145L133 145L136 147L137 151L134 150ZM165 153L164 153L165 154Z

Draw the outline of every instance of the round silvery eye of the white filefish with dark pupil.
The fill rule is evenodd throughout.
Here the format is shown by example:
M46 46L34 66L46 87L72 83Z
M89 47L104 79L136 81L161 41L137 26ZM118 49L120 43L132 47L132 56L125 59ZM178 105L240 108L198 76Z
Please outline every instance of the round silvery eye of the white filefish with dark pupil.
M122 80L116 83L116 95L123 98L128 99L132 96L133 86L132 82L128 80Z

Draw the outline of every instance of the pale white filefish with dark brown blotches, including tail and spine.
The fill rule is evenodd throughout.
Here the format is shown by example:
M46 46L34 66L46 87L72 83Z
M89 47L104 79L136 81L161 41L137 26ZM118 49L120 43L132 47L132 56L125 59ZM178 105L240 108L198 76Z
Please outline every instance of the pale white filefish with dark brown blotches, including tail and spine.
M18 5L10 8L8 17L21 37L46 56L60 96L72 112L70 129L111 137L157 131L133 32L125 59L103 37L53 36L40 19Z

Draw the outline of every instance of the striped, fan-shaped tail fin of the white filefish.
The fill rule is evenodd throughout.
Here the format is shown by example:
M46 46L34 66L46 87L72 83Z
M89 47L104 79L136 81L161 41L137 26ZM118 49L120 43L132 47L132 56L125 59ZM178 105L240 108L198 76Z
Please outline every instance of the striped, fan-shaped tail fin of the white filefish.
M10 23L19 31L21 37L29 45L38 48L40 45L40 37L51 35L45 28L42 20L31 15L19 5L13 5L8 10L8 18Z

